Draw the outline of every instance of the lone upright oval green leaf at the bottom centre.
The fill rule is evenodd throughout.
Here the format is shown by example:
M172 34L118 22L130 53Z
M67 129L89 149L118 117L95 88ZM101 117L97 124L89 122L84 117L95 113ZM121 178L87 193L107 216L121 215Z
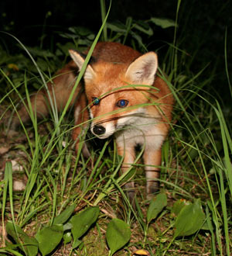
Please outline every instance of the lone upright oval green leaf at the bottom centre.
M107 226L106 240L111 254L124 247L131 238L131 229L123 220L113 219Z

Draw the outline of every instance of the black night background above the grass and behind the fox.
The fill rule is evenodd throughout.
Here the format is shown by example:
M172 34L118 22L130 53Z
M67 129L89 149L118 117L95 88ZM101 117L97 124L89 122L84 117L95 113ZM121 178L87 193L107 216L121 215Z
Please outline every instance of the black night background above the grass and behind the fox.
M232 56L232 8L227 1L182 1L179 9L178 34L179 47L193 58L190 71L199 72L206 64L209 66L203 72L203 78L213 71L212 90L220 92L221 97L228 97L230 92L225 73L224 43L227 29L227 58L231 73ZM106 5L108 1L106 0ZM125 23L128 16L135 20L146 20L151 17L176 19L177 1L162 0L113 0L109 21ZM74 0L9 0L0 2L1 30L8 31L22 41L26 46L39 45L39 38L46 35L43 47L56 47L57 31L65 31L70 26L84 26L97 33L101 27L100 1ZM46 18L48 12L51 15ZM44 26L46 25L46 26ZM164 42L172 43L174 29L155 28L152 37L145 39L148 50L156 50ZM2 37L2 38L1 38ZM11 49L14 40L0 35L5 47ZM51 43L52 42L52 43ZM163 48L165 50L165 47ZM196 51L197 50L197 51ZM225 102L227 102L225 101ZM231 105L229 103L229 105Z

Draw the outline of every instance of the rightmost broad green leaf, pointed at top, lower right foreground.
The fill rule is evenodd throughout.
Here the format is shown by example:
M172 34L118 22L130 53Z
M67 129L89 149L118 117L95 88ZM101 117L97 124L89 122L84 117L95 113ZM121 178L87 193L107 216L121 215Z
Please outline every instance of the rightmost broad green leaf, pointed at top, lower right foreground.
M176 218L174 225L175 234L174 237L189 236L196 233L203 227L203 223L206 220L206 216L203 213L203 209L200 203L200 199L196 202L184 206Z

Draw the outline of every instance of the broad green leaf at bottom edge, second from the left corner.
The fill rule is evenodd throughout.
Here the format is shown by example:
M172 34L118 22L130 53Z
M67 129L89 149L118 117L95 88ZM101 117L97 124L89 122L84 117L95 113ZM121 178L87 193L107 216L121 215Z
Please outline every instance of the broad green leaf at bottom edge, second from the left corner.
M53 225L51 227L44 227L36 234L36 239L39 242L39 251L43 255L49 254L60 243L63 237L63 226Z

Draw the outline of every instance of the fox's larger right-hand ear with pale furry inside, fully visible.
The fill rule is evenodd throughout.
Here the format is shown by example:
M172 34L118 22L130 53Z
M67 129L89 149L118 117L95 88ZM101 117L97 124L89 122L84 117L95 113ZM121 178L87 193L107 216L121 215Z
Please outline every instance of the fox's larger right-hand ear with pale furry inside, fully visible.
M157 68L158 57L154 52L149 52L133 61L125 76L137 85L153 85Z

